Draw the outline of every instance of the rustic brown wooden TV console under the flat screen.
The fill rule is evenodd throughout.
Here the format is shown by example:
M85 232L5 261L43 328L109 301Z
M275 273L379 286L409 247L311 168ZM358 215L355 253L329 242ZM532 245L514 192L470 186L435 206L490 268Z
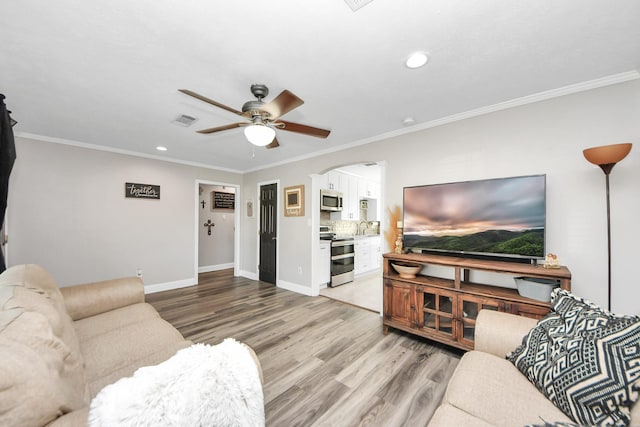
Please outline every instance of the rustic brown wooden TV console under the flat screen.
M425 266L415 278L401 278L392 263ZM451 279L424 275L438 266ZM481 309L542 318L549 303L521 296L516 289L473 283L472 271L544 279L557 279L571 290L567 267L547 269L541 265L449 257L427 254L383 255L383 328L420 335L463 350L472 350L475 319ZM452 273L452 274L451 274ZM443 275L443 274L440 274ZM515 285L515 283L514 283Z

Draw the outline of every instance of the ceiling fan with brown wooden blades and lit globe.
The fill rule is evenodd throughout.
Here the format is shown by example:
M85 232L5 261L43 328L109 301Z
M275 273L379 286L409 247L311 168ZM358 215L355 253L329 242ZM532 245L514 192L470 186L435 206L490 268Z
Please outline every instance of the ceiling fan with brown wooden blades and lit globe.
M198 133L208 134L244 127L244 134L252 144L265 146L266 148L276 148L280 144L276 138L275 129L301 133L303 135L315 136L317 138L326 138L331 132L326 129L280 120L281 116L284 116L291 110L304 104L302 99L298 98L286 89L280 92L280 94L271 102L264 102L263 98L269 94L269 88L263 84L253 84L251 85L251 93L257 98L257 101L245 102L242 106L242 111L228 107L188 89L178 90L184 94L247 119L247 121L243 122L202 129L197 131Z

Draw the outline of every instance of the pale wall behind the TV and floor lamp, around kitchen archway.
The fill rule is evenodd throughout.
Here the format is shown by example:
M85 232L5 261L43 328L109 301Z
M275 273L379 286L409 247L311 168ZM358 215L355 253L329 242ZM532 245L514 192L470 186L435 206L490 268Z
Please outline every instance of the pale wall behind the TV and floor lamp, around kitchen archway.
M283 187L305 184L308 189L309 174L386 160L386 227L386 208L402 206L404 186L546 174L547 251L572 271L574 292L606 306L604 174L584 159L582 150L632 142L631 153L611 174L612 308L639 313L640 287L633 266L640 241L639 118L640 80L633 80L245 174L243 188L252 191L256 182L280 177ZM307 206L310 198L307 191ZM282 221L280 279L310 288L311 224ZM248 225L245 219L243 233L252 232ZM245 243L250 240L245 234ZM245 246L243 268L255 271L254 260L255 248ZM297 273L298 266L303 275Z

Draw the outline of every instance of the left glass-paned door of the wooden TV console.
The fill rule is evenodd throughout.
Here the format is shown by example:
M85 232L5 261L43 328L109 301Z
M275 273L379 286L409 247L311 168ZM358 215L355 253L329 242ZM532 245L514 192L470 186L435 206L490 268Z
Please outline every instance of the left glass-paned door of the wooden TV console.
M422 329L453 338L456 333L455 295L443 290L425 289L420 292L420 296Z

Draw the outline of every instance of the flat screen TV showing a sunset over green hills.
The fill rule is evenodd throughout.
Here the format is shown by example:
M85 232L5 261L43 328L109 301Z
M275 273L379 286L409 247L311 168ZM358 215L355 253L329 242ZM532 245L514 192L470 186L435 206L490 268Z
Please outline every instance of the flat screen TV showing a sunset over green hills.
M531 262L545 254L546 175L405 187L411 252Z

